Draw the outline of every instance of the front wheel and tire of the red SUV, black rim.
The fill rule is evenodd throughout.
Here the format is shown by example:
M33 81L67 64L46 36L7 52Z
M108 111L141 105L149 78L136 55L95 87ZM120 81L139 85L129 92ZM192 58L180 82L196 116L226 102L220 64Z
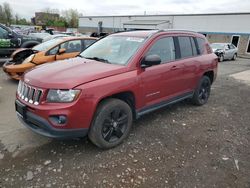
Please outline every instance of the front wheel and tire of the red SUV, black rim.
M129 135L132 127L132 110L119 99L106 99L98 106L89 139L102 149L115 147Z

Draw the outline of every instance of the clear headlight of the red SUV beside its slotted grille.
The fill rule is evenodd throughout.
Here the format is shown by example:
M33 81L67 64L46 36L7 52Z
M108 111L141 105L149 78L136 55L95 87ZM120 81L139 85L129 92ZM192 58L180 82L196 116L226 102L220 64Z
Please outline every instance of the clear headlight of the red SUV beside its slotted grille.
M47 95L47 102L72 102L79 94L80 90L50 89Z

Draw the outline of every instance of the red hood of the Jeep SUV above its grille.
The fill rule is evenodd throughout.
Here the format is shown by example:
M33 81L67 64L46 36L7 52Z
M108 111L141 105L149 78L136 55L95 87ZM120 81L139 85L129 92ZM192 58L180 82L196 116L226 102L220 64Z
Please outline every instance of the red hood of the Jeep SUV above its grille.
M71 89L126 70L125 66L76 57L38 66L24 75L24 81L40 88Z

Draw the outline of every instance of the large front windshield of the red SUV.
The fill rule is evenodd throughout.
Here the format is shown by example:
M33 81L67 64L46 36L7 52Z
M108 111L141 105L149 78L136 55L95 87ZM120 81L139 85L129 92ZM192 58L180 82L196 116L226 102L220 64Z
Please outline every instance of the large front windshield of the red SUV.
M91 45L80 56L105 63L125 65L143 41L144 38L140 37L108 36Z

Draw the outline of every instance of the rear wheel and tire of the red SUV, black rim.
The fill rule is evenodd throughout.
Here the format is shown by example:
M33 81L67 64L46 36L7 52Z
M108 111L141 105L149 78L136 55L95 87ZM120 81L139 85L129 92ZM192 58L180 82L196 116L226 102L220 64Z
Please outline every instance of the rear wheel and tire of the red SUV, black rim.
M210 90L211 90L211 81L209 77L203 76L198 84L198 87L194 92L192 98L193 104L197 106L202 106L206 104L210 96Z

